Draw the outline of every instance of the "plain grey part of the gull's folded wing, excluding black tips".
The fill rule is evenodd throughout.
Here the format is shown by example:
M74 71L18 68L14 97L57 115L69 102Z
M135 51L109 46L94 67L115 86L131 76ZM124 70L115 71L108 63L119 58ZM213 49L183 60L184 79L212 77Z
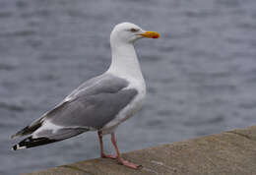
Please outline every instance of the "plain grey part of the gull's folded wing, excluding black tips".
M109 74L96 77L75 89L66 101L46 113L44 122L61 126L65 132L67 129L98 130L137 95L135 88L125 88L128 85L126 80ZM45 136L42 133L45 131L36 132L36 137Z

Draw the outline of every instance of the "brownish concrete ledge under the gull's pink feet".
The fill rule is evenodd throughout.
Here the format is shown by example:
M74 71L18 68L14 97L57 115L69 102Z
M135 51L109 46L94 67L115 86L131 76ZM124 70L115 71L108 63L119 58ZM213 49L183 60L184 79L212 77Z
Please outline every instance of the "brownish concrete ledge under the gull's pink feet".
M27 175L252 175L256 174L256 126L194 140L124 153L133 170L115 160L96 158Z

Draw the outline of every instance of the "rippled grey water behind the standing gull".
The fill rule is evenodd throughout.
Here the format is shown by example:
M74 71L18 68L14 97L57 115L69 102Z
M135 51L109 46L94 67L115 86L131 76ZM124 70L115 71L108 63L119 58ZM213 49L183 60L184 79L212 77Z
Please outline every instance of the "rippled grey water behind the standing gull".
M136 43L148 96L117 130L122 151L255 125L255 0L1 0L0 174L98 157L96 133L21 151L9 138L107 69L124 21L161 38Z

